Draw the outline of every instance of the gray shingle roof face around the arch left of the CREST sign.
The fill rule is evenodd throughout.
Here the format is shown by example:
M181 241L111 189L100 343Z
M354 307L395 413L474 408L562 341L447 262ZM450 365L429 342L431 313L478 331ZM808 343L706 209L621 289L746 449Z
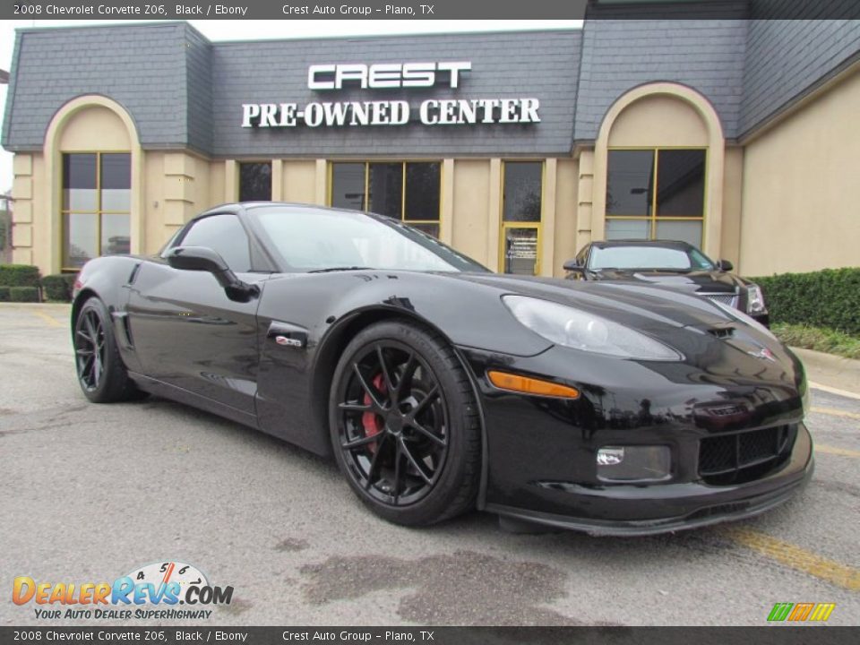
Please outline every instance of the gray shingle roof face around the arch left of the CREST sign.
M7 150L40 150L56 111L101 94L131 114L145 147L185 145L185 23L20 30L6 103Z

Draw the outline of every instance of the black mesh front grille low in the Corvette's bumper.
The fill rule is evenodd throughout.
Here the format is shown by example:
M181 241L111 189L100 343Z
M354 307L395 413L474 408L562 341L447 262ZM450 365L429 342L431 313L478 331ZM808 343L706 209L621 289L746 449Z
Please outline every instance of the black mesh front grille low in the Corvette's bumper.
M702 439L699 475L715 486L764 477L788 459L796 434L796 426L777 426Z

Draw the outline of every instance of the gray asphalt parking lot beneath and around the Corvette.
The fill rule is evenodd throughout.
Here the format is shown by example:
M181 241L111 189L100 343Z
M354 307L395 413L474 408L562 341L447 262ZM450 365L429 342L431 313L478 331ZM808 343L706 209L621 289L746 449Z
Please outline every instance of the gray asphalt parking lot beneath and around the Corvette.
M402 529L264 434L168 400L88 403L67 316L0 305L0 624L93 623L14 605L16 576L168 560L235 589L193 624L766 624L777 602L860 624L860 398L813 391L813 482L754 520L653 538L512 535L478 513Z

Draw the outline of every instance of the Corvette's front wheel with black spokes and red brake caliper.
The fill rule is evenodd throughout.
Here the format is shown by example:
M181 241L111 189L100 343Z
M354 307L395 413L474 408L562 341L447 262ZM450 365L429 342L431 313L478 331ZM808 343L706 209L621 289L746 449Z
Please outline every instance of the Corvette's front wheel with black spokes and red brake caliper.
M385 520L425 526L474 508L477 401L439 334L406 321L360 331L331 381L329 426L340 471Z

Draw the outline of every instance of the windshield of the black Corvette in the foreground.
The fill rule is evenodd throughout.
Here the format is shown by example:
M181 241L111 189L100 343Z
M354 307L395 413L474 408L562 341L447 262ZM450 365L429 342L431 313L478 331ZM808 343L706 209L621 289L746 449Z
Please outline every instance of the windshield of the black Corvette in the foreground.
M396 219L277 206L250 211L291 271L382 269L488 272L466 255Z

